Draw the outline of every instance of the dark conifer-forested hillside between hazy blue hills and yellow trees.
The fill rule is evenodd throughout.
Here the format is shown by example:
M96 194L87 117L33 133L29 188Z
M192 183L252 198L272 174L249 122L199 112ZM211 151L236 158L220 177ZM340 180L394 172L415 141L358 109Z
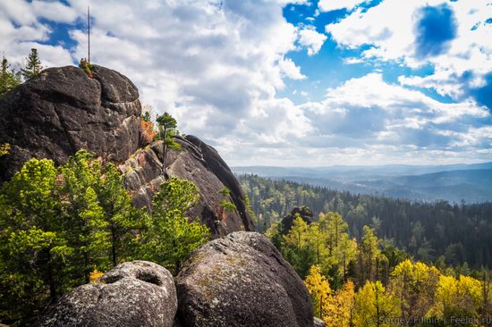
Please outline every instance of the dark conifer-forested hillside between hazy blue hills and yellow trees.
M240 175L239 180L256 215L259 231L266 231L293 206L314 212L341 214L352 237L361 239L363 226L391 239L417 260L454 266L492 265L492 203L449 204L355 195L284 180Z

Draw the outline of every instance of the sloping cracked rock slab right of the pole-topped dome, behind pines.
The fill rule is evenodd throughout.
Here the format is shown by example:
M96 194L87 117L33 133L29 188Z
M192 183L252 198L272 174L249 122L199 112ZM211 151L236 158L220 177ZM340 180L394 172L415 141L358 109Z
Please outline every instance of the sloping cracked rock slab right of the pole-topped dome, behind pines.
M254 231L254 226L246 210L241 185L233 172L213 147L199 138L187 136L175 138L182 151L170 149L167 155L166 173L168 177L191 180L199 189L199 203L188 213L200 217L215 236L223 236L231 231ZM151 206L154 193L165 181L162 175L161 141L141 149L120 166L125 173L126 188L131 190L135 205ZM220 190L227 188L230 196L225 198ZM225 199L236 206L233 212L226 212L219 204Z

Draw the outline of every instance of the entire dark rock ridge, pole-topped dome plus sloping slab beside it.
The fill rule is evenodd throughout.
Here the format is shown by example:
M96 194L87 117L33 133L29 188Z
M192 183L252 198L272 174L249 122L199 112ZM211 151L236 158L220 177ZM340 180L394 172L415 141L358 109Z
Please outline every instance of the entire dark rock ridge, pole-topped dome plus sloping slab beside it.
M0 184L32 157L64 164L84 148L121 164L134 203L150 208L162 176L162 143L139 150L141 105L131 80L117 71L95 66L94 78L77 67L49 68L0 100ZM214 236L253 231L241 186L212 147L199 138L177 138L182 151L171 151L168 175L193 181L200 201L189 213L199 216ZM236 210L227 213L219 191L227 187Z

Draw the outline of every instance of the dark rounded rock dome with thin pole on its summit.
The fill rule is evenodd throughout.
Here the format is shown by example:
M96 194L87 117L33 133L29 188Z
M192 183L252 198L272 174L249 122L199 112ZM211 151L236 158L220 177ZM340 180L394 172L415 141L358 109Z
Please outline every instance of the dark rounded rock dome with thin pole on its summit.
M117 71L95 66L94 78L73 66L49 68L0 101L0 182L32 157L64 164L81 148L124 161L140 143L139 91Z

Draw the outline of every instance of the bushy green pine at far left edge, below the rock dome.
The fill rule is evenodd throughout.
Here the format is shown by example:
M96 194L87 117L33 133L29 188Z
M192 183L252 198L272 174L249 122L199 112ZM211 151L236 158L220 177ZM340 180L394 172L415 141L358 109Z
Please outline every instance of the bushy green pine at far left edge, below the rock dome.
M47 159L31 159L0 192L0 318L32 319L64 289L73 248L64 235L57 172Z

